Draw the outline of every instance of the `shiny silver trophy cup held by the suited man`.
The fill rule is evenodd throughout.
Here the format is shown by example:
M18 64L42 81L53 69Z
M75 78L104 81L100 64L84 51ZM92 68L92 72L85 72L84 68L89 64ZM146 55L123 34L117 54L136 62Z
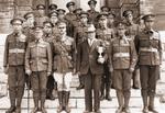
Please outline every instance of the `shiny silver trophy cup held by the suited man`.
M105 58L103 58L103 53L105 53L105 47L103 46L98 46L98 63L103 64Z

